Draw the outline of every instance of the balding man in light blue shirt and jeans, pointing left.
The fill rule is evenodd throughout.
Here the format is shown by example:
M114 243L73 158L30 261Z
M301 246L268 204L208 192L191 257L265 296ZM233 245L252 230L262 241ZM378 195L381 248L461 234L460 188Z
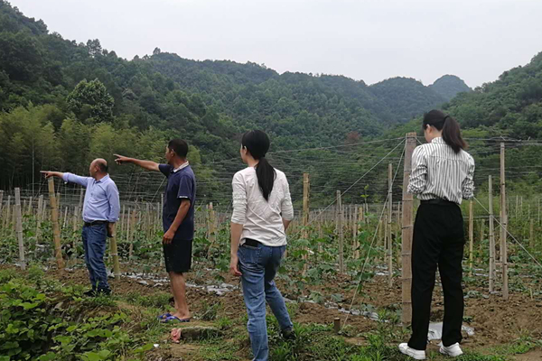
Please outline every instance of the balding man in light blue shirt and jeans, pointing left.
M58 177L70 183L77 183L87 189L83 204L83 248L85 263L89 269L92 289L85 294L95 296L109 294L104 254L107 236L114 236L115 223L118 220L120 202L117 185L107 173L107 162L96 159L90 163L90 177L81 177L60 171L42 171L46 178Z

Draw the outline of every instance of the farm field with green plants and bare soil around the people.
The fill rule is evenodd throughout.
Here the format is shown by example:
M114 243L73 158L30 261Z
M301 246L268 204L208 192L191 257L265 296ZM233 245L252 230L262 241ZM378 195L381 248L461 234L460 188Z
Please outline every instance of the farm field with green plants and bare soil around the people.
M519 207L522 202L519 199ZM527 199L525 202L523 207L527 208ZM143 205L141 209L147 207ZM152 209L150 205L148 209ZM50 219L39 216L34 208L25 211L24 271L17 266L17 233L11 223L3 227L0 302L3 310L8 310L1 319L5 329L3 353L8 355L4 359L249 360L247 316L239 281L227 273L227 215L204 209L197 221L195 262L188 276L187 297L193 319L182 325L161 324L156 319L171 304L167 276L160 266L161 231L155 211L143 212L141 218L136 213L135 218L139 219L133 229L127 226L126 214L126 219L121 220L125 223L117 234L120 273L117 279L111 275L113 295L109 298L82 296L89 282L82 262L79 228L71 221L69 212L62 217L68 217L70 222L64 226L61 219L63 270L58 269L54 257ZM282 340L276 320L269 316L273 360L405 359L397 351L397 344L409 335L409 330L401 325L400 228L397 217L392 217L388 243L388 224L379 218L382 210L382 205L344 205L342 232L338 230L337 218L332 217L338 208L326 210L330 216L321 218L328 220L313 220L308 227L294 224L277 283L288 300L297 338L289 343ZM538 238L532 242L528 239L537 235L539 224L533 221L533 233L529 233L531 222L525 219L527 213L521 217L523 210L519 208L515 217L514 212L512 206L510 214L514 216L510 218L509 231L525 236L521 238L525 251L510 242L509 300L501 294L499 264L494 291L489 292L487 229L481 229L481 220L473 221L476 232L472 232L472 269L468 241L463 263L463 326L470 328L469 333L464 332L467 353L461 357L463 360L537 360L541 356L542 269L528 256L540 255ZM42 218L40 238L36 237L38 217ZM465 218L468 228L468 214ZM342 273L337 262L341 258L341 233ZM393 255L391 287L388 244L392 245ZM107 255L111 255L110 250ZM113 257L107 260L113 269ZM442 321L443 315L442 289L437 281L432 321ZM338 333L334 329L335 319L341 322ZM8 327L9 324L12 326ZM213 330L204 333L202 339L182 339L180 344L170 340L173 328L201 326ZM444 359L435 345L436 341L432 341L428 347L429 359Z

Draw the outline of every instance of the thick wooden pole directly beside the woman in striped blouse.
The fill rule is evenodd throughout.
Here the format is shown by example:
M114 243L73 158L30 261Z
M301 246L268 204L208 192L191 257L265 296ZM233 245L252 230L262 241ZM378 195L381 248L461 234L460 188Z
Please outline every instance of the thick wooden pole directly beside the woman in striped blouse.
M402 232L402 322L406 326L412 320L412 238L414 233L414 225L412 218L412 207L414 197L412 194L406 192L408 188L408 182L410 179L410 173L412 171L412 153L416 147L416 133L406 134L405 145L405 166L403 173L403 232Z

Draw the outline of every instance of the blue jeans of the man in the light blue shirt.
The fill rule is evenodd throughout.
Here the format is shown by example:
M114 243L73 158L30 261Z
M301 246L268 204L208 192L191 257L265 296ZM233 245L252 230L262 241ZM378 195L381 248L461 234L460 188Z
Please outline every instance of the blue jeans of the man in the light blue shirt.
M85 264L93 290L109 290L104 254L107 245L107 224L83 227Z

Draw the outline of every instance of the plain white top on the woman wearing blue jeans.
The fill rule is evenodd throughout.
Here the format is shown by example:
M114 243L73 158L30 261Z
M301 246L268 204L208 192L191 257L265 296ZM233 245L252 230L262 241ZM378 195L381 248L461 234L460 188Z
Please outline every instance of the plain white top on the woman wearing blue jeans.
M263 245L286 245L283 218L294 219L290 186L285 173L276 171L268 201L257 184L256 169L248 167L233 176L233 214L231 222L243 225L241 245L254 239Z

